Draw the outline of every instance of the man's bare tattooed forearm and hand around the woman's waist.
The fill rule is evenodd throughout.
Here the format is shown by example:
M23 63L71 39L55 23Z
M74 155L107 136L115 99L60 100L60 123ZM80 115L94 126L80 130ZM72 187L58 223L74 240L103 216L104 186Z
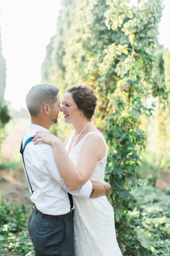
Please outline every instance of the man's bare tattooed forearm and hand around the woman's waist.
M111 195L111 185L107 182L92 182L92 193L89 198L96 198L103 195L106 195L107 198Z

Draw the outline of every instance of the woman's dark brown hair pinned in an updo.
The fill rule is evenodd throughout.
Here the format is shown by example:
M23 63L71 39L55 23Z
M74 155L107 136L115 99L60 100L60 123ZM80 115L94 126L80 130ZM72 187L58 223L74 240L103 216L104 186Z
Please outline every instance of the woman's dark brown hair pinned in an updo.
M73 85L68 88L66 92L72 94L72 99L78 109L81 110L83 115L90 121L97 105L97 97L92 88L86 85Z

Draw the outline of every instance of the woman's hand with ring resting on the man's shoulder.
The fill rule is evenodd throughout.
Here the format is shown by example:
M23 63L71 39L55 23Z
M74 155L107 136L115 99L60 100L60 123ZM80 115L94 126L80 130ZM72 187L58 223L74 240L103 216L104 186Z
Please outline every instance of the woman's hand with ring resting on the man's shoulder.
M39 142L44 142L46 144L52 145L53 143L57 142L57 140L59 140L59 138L55 135L45 131L37 131L32 137L34 145L38 144Z

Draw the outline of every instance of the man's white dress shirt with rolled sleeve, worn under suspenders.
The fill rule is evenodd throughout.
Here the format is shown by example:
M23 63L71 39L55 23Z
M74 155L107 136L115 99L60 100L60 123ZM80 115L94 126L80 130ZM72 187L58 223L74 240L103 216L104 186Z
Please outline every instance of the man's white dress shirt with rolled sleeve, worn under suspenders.
M46 128L31 123L24 136L23 146L28 138L40 130L49 132ZM43 142L34 145L32 141L29 142L24 150L24 162L26 166L25 173L27 172L33 189L31 201L44 214L62 215L68 213L70 211L70 201L67 192L73 195L73 201L74 195L83 199L88 199L91 195L92 182L90 180L81 189L74 191L66 186L57 168L51 145ZM30 186L29 189L31 192Z

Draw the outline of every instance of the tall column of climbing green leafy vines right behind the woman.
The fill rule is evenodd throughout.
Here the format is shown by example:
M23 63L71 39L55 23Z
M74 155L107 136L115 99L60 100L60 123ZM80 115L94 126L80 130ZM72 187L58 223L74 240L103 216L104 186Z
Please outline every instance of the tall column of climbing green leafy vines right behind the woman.
M106 3L110 6L105 12L106 26L114 31L121 28L128 39L123 45L113 43L107 47L100 64L100 75L112 74L115 81L114 92L106 95L105 137L109 149L106 179L112 187L110 202L120 248L125 255L137 256L137 248L150 249L137 237L137 228L127 216L137 205L130 191L137 184L134 177L140 165L138 152L139 148L145 148L146 141L140 128L141 116L152 115L157 99L163 101L168 95L154 55L163 0L138 1L137 6L132 7L130 0L107 0ZM147 107L147 99L152 101L151 108Z

